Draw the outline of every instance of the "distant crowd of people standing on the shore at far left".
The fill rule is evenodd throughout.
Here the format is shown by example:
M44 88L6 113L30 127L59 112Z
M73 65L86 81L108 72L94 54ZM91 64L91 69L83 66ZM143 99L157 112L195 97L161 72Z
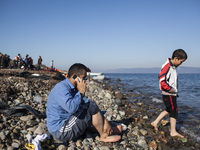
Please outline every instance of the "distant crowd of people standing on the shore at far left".
M39 56L37 67L33 65L33 59L26 54L25 59L22 58L20 54L10 59L10 56L0 53L0 68L10 68L10 69L24 69L24 70L41 70L42 57Z

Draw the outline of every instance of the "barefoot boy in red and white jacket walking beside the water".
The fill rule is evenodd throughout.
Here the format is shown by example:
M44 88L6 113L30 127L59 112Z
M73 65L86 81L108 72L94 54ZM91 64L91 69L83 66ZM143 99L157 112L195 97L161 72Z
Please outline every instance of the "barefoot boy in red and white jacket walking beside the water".
M177 108L177 81L178 75L176 72L176 68L181 65L187 59L187 54L182 49L177 49L173 52L172 58L168 59L161 68L161 72L159 74L159 83L160 90L162 91L163 102L166 106L166 110L162 111L160 115L154 120L151 125L158 130L158 123L162 118L169 114L170 116L170 125L171 132L170 135L172 137L179 136L183 138L184 136L179 134L176 131L176 119L178 116L178 108Z

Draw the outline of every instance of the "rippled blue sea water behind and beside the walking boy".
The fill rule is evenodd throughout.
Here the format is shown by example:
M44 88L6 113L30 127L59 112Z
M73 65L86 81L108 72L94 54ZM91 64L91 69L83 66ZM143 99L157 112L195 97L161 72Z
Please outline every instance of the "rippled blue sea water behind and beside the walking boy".
M156 103L164 108L158 74L113 73L105 77L111 85L117 84L117 88L121 86L124 91L143 95L140 99L144 103ZM200 74L179 74L178 89L177 128L200 142Z

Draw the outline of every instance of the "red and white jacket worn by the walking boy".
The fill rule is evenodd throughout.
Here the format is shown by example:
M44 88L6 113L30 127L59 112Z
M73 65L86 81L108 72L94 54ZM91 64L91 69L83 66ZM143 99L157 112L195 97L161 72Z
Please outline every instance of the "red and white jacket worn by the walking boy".
M168 58L167 61L162 65L158 78L162 94L176 96L178 92L178 74L176 71L176 67L172 64L170 60L171 59ZM172 88L176 92L175 94L169 93Z

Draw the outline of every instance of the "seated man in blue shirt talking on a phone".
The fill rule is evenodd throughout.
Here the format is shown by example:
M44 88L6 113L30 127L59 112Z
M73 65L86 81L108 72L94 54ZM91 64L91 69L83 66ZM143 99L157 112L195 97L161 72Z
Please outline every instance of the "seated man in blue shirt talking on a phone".
M100 141L119 141L121 136L113 134L121 134L122 126L112 128L96 102L85 97L87 70L83 64L72 65L67 78L50 92L46 108L48 131L56 140L67 142L93 126L100 134Z

